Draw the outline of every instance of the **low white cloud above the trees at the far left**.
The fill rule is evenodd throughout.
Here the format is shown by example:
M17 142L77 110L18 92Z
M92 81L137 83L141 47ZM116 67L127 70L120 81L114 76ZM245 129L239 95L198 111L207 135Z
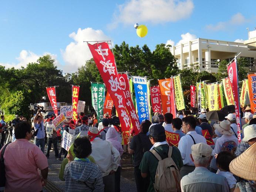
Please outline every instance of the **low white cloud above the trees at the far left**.
M60 65L60 63L57 60L57 55L56 54L51 54L51 53L43 53L42 55L37 55L33 53L32 51L27 51L27 50L22 50L20 51L20 56L16 58L17 63L0 63L0 65L6 67L6 68L21 68L21 67L26 67L28 63L34 63L38 60L39 57L43 57L44 55L51 55L51 57L55 60L55 64L57 66Z

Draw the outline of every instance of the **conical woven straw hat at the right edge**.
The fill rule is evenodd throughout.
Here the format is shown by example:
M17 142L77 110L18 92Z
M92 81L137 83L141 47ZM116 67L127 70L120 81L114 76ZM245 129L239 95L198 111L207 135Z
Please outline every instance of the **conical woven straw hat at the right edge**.
M256 143L229 164L230 172L241 178L256 181Z

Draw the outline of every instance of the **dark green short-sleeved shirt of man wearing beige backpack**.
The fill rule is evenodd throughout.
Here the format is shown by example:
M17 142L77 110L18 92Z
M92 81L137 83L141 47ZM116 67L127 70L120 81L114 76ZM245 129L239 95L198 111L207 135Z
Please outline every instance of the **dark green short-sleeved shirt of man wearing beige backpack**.
M162 157L162 159L165 159L168 157L168 151L169 151L169 145L164 144L164 145L159 145L155 148L153 148L158 154ZM175 146L172 147L172 159L174 160L177 168L180 170L180 168L183 166L182 158L181 158L181 153L179 152L179 149L176 148ZM150 152L147 151L145 152L141 164L139 165L139 169L141 170L142 173L147 173L149 174L149 187L148 187L148 192L154 192L154 182L155 182L155 173L156 169L158 166L158 159Z

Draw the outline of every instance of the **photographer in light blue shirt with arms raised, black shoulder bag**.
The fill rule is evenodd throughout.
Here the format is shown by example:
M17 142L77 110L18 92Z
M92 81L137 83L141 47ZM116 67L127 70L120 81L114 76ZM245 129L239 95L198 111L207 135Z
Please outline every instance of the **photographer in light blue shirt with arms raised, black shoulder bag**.
M38 146L41 151L44 153L44 137L45 137L45 131L44 131L44 122L43 122L43 115L41 114L41 109L37 111L37 114L34 118L34 144Z

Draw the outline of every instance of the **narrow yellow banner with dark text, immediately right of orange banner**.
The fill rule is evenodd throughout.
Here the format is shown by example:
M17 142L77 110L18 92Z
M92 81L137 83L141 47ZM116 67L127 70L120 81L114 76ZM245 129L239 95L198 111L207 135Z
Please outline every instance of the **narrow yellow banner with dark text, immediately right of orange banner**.
M184 103L183 91L181 87L181 77L180 75L177 75L173 77L173 79L174 79L174 87L175 87L176 108L178 111L183 110L185 109L185 103Z

